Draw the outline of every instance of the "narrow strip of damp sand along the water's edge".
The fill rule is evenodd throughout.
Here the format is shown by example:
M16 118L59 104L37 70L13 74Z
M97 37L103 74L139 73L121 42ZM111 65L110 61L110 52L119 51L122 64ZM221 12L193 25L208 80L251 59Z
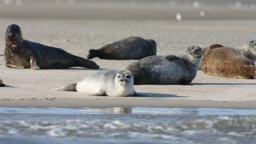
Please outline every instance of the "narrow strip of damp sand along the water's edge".
M256 101L221 102L214 100L164 100L164 99L54 99L54 100L1 100L1 107L12 108L219 108L219 109L256 109ZM33 101L33 102L31 102ZM42 102L44 101L44 102ZM66 106L67 105L67 106Z

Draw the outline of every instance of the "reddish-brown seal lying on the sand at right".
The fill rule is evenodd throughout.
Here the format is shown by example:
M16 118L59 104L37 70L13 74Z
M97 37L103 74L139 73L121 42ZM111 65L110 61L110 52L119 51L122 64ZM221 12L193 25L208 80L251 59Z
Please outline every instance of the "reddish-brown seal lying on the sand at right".
M209 76L256 79L256 67L253 61L244 58L230 47L207 49L201 68Z

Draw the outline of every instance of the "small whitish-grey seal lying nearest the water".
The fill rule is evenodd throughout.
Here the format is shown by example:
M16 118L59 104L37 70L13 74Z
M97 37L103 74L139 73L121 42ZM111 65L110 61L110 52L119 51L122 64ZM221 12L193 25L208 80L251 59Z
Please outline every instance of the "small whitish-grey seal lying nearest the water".
M134 78L129 70L101 70L85 77L82 81L53 90L77 91L94 96L150 96L137 93L133 87Z

